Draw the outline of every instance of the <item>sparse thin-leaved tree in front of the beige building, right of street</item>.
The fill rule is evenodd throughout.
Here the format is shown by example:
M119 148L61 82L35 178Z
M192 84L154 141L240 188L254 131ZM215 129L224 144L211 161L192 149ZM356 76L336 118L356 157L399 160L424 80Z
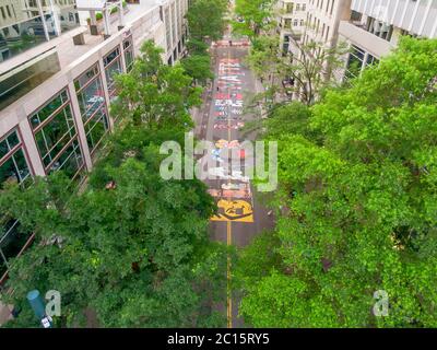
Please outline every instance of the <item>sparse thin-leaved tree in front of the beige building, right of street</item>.
M284 55L277 35L261 36L253 40L248 63L263 82L265 91L258 97L264 98L269 114L280 96L295 95L298 101L311 105L328 88L338 86L333 72L343 65L347 52L344 44L332 48L324 44L308 44L291 40L292 52ZM283 80L291 84L284 86Z

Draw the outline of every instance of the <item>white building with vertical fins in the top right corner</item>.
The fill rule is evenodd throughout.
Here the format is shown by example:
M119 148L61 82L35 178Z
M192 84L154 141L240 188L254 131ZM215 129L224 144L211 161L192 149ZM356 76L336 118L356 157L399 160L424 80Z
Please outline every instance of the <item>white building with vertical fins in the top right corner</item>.
M357 77L388 55L402 35L437 37L437 1L352 0L351 14L340 22L339 35L351 46L344 78Z

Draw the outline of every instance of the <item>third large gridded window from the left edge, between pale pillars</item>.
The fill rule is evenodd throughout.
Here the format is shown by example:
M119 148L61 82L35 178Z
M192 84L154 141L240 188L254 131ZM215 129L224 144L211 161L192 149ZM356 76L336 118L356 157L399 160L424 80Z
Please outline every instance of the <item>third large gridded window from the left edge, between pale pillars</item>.
M86 142L90 152L94 154L103 137L109 130L105 93L102 86L98 66L95 65L82 74L74 82L74 86L85 128Z

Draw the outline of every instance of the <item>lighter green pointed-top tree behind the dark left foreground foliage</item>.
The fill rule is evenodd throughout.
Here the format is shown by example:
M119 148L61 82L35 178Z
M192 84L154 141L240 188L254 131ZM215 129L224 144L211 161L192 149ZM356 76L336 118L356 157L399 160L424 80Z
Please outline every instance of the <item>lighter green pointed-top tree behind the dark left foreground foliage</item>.
M150 128L192 125L189 109L201 103L201 90L180 65L163 63L163 50L145 42L129 74L117 75L119 96L111 105L115 115Z

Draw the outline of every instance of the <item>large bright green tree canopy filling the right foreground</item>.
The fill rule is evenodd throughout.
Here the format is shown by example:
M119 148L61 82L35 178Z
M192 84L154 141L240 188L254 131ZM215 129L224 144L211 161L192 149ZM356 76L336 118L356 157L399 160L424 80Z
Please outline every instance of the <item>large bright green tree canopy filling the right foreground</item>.
M243 280L247 322L437 326L436 77L437 40L405 37L350 88L328 91L307 127L273 131L277 242L257 249L281 259ZM257 265L250 249L246 269ZM387 292L388 316L376 316L375 292Z

